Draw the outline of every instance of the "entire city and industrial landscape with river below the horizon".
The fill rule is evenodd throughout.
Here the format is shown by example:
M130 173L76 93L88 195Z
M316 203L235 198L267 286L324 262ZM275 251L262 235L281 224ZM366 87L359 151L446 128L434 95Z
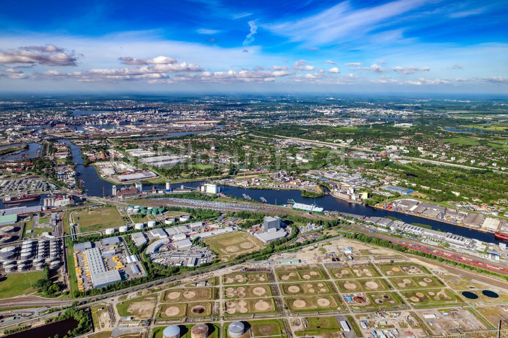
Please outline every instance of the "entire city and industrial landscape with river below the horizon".
M508 102L3 96L12 337L508 334Z

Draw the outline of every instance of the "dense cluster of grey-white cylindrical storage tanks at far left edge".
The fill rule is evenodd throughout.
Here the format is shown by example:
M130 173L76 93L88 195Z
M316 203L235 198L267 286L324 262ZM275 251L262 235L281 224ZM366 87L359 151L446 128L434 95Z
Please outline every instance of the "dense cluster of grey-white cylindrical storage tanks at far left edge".
M16 251L19 250L18 253ZM15 261L18 257L19 259ZM26 240L21 247L7 246L0 249L0 262L6 273L26 271L30 267L42 270L49 265L51 269L60 266L60 246L58 240Z

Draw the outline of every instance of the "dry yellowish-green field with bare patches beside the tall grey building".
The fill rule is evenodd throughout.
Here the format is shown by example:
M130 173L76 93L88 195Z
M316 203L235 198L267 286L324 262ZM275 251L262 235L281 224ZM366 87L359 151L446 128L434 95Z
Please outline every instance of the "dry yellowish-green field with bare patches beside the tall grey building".
M241 231L205 238L203 242L210 246L222 261L232 260L241 254L258 251L265 247L254 236Z

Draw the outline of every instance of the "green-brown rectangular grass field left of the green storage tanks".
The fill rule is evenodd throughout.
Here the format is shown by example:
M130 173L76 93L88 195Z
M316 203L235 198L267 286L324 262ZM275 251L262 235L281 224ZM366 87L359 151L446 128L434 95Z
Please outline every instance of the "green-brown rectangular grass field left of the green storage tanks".
M103 230L125 225L118 210L111 207L82 210L75 213L73 219L74 223L79 224L79 230L81 232Z

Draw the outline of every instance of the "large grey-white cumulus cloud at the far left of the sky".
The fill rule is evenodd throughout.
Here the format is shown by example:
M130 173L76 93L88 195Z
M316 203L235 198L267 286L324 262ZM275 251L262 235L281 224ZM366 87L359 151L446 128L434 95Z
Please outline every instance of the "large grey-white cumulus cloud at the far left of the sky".
M49 66L75 66L77 56L54 45L27 46L0 50L0 63L30 63Z

